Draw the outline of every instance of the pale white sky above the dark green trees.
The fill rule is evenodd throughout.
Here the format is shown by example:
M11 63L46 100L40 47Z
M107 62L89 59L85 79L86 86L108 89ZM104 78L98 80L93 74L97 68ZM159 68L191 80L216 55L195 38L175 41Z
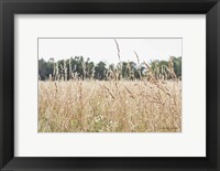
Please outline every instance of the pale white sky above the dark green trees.
M182 39L116 39L120 47L121 61L140 62L168 60L182 56ZM119 62L114 39L38 39L38 58L67 60L84 56L98 63L117 64Z

